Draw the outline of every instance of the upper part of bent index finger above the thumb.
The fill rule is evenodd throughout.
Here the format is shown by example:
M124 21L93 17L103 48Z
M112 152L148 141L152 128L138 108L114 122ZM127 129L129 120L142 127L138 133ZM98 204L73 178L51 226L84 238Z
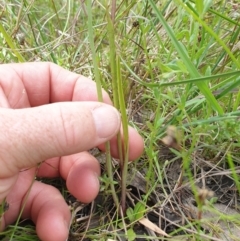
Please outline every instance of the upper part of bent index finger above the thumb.
M12 108L98 100L95 82L47 62L0 65L0 91L7 97L0 104ZM104 90L102 94L104 102L111 104Z

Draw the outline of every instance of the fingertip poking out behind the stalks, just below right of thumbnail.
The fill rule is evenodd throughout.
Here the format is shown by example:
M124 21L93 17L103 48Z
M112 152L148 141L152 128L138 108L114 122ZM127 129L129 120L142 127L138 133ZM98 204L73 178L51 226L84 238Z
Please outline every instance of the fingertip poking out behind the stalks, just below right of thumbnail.
M122 134L122 130L121 130ZM144 141L143 138L138 134L138 132L133 129L132 127L128 128L128 134L129 134L129 161L136 160L139 158L144 149ZM123 134L122 134L123 135ZM124 140L122 139L124 142ZM117 137L114 136L113 139L110 141L111 144L111 154L113 157L118 158L119 157L119 151L117 146ZM99 145L99 148L103 151L105 151L105 144Z

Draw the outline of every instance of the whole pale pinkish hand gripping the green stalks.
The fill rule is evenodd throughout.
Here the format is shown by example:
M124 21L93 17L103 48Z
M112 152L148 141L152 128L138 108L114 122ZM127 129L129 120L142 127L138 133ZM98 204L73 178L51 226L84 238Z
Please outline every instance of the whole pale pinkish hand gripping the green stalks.
M104 150L111 140L117 157L121 129L105 91L103 97L97 101L92 80L52 63L0 65L0 203L9 204L0 231L17 219L31 187L22 218L34 221L43 241L67 239L71 214L62 195L33 180L61 176L80 201L97 196L100 166L87 150ZM131 127L129 148L130 160L142 154L143 140Z

